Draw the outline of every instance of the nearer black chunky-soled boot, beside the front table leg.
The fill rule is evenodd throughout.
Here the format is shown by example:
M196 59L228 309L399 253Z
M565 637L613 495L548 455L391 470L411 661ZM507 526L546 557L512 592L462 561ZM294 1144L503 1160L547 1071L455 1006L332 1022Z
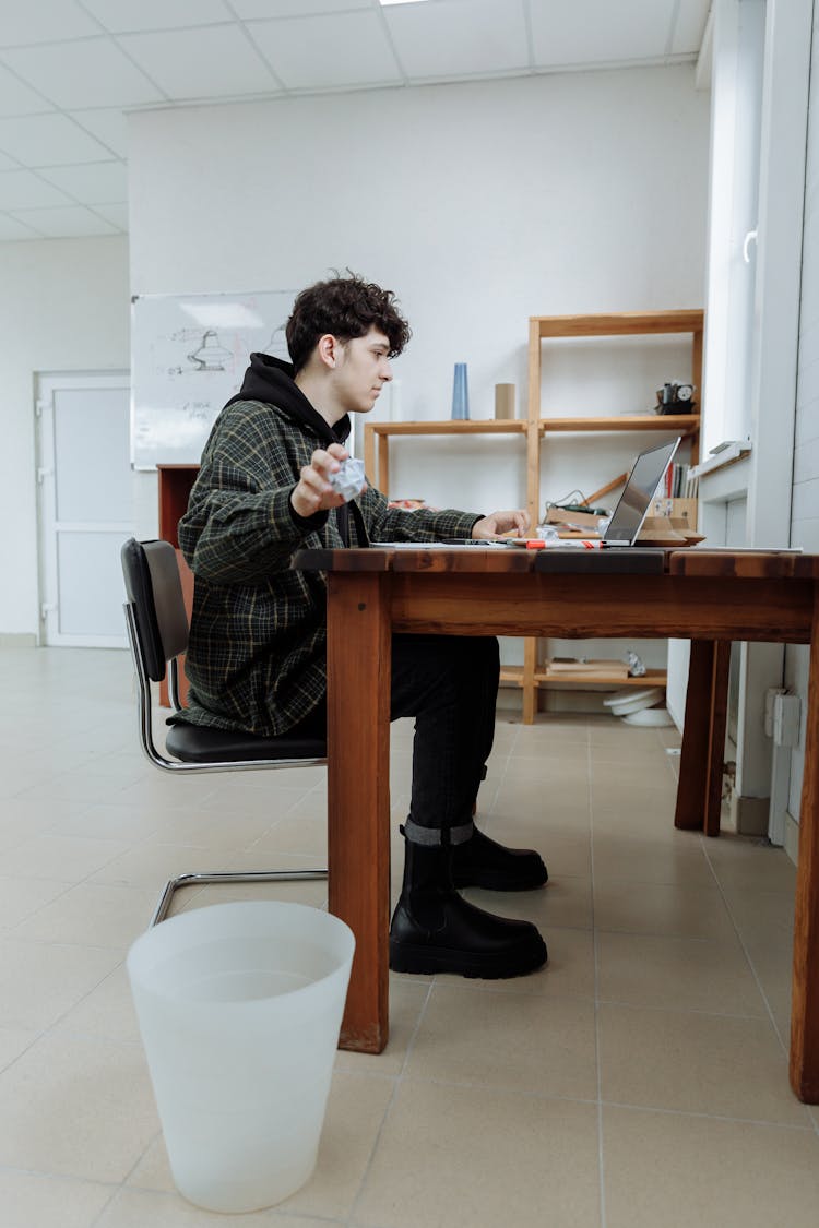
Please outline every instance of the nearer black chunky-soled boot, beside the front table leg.
M454 973L490 980L545 964L546 944L529 921L492 916L452 885L451 850L405 845L404 884L389 927L395 973Z

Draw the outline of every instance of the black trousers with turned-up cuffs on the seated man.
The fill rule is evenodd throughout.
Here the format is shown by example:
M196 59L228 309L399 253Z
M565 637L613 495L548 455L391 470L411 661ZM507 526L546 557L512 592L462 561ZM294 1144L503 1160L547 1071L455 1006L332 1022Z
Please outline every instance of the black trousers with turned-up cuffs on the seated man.
M473 806L495 737L499 679L495 639L393 636L389 716L392 721L415 717L405 828L414 844L469 840ZM324 737L325 729L327 704L322 704L290 732Z

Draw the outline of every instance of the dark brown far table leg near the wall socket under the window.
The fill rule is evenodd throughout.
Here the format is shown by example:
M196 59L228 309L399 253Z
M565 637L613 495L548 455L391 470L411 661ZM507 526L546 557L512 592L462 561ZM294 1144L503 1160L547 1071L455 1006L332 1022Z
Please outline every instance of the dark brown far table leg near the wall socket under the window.
M674 826L720 835L728 710L728 640L691 640Z

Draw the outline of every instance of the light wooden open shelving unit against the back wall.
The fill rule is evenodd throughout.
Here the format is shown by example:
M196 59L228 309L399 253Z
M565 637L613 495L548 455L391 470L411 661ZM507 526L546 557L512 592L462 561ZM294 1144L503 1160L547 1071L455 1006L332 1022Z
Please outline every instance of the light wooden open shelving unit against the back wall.
M557 432L600 433L621 431L652 431L664 435L683 435L690 440L691 464L699 459L700 410L702 389L702 335L705 313L700 309L616 312L594 316L533 316L529 319L529 399L526 419L430 422L367 422L365 425L365 469L378 489L389 495L389 441L400 436L426 435L518 435L524 441L527 490L526 506L532 523L537 524L543 513L540 503L540 458ZM691 382L697 388L695 413L691 414L611 414L604 416L546 416L541 415L540 388L548 377L548 360L544 365L544 340L562 338L600 336L662 336L688 334L691 338ZM618 483L611 483L611 488ZM502 680L521 688L523 720L532 723L538 706L540 688L589 688L588 675L555 679L548 677L545 666L538 659L538 641L524 641L524 663L505 667ZM643 686L647 683L664 685L664 670L651 670L643 678L630 678L625 685ZM621 678L596 677L599 688L623 686Z

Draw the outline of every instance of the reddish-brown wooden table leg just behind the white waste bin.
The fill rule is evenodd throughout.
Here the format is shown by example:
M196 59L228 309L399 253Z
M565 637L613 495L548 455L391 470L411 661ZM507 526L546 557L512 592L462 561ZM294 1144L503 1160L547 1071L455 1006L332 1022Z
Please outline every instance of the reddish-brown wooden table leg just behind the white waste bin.
M356 938L339 1044L379 1054L389 1035L387 577L335 572L328 587L329 909Z

